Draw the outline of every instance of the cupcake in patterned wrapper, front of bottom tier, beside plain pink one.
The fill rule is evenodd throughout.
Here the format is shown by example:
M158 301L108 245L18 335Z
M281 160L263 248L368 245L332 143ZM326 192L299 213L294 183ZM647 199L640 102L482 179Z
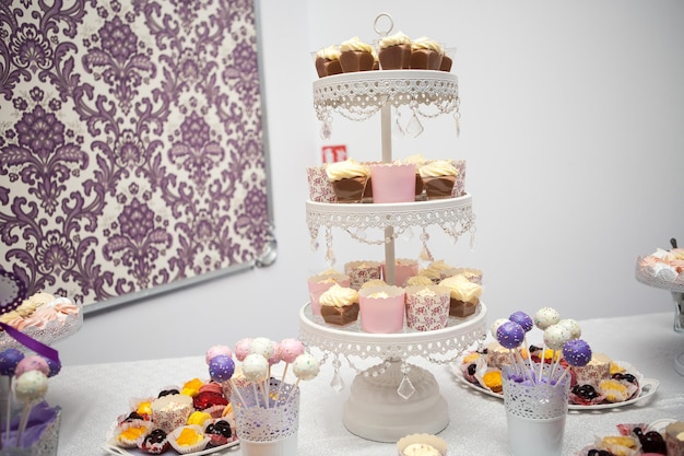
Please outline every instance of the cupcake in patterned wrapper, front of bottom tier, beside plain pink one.
M449 289L439 285L406 287L406 326L418 331L446 328L449 323Z

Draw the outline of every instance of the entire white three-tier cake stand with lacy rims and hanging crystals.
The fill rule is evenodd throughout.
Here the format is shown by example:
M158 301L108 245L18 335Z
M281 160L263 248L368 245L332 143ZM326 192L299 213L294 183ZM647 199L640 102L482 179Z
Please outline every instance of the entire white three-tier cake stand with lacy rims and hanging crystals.
M377 30L386 35L391 31ZM392 161L392 108L408 106L414 116L424 118L451 114L458 129L458 79L436 70L377 70L342 73L314 82L314 105L321 121L321 132L329 135L332 116L342 115L362 121L380 113L382 162ZM355 241L384 245L385 280L394 284L394 239L411 227L422 227L425 247L427 226L439 226L457 241L474 232L469 194L432 201L405 203L326 203L307 201L306 221L312 245L326 232L327 259L332 244L332 229L341 229ZM368 234L379 232L376 241ZM474 315L449 317L448 326L432 331L404 328L399 334L368 334L358 323L343 327L327 325L311 313L310 304L299 312L299 337L309 347L320 349L323 361L332 359L331 386L341 390L339 374L342 360L356 369L352 359L380 360L366 370L356 369L350 397L344 405L344 425L352 433L379 442L396 442L408 433L437 433L449 423L446 399L434 375L409 363L417 356L435 364L447 364L467 348L483 340L486 334L486 306L481 303Z

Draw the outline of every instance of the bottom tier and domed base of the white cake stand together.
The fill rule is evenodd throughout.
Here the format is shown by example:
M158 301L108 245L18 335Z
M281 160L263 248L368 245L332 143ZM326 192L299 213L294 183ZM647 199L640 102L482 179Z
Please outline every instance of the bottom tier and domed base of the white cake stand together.
M435 364L448 364L476 341L486 337L486 307L480 303L475 314L449 317L446 328L398 334L369 334L359 321L338 327L312 315L310 304L299 311L299 338L332 356L334 374L331 386L344 388L340 359L357 371L350 397L344 405L345 428L361 437L377 442L397 442L415 432L435 434L449 423L446 399L429 371L410 364L418 356ZM381 362L361 371L352 358L379 359Z

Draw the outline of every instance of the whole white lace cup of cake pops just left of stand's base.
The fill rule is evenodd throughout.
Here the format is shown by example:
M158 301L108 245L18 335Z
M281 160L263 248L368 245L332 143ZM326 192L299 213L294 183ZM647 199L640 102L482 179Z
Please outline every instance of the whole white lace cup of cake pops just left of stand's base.
M269 395L268 408L258 397L258 387L250 384L238 390L246 402L236 402L234 409L243 456L296 456L299 388L283 383L280 395Z

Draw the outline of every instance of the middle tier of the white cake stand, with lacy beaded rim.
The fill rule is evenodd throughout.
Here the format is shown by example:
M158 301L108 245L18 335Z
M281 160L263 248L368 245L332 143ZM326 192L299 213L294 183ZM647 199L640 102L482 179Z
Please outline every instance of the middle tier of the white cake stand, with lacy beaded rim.
M472 197L435 199L394 203L332 203L306 202L306 224L311 242L318 237L321 226L340 227L356 241L373 243L365 235L370 230L393 229L394 236L405 230L437 225L453 241L475 229ZM382 238L379 242L387 242Z

